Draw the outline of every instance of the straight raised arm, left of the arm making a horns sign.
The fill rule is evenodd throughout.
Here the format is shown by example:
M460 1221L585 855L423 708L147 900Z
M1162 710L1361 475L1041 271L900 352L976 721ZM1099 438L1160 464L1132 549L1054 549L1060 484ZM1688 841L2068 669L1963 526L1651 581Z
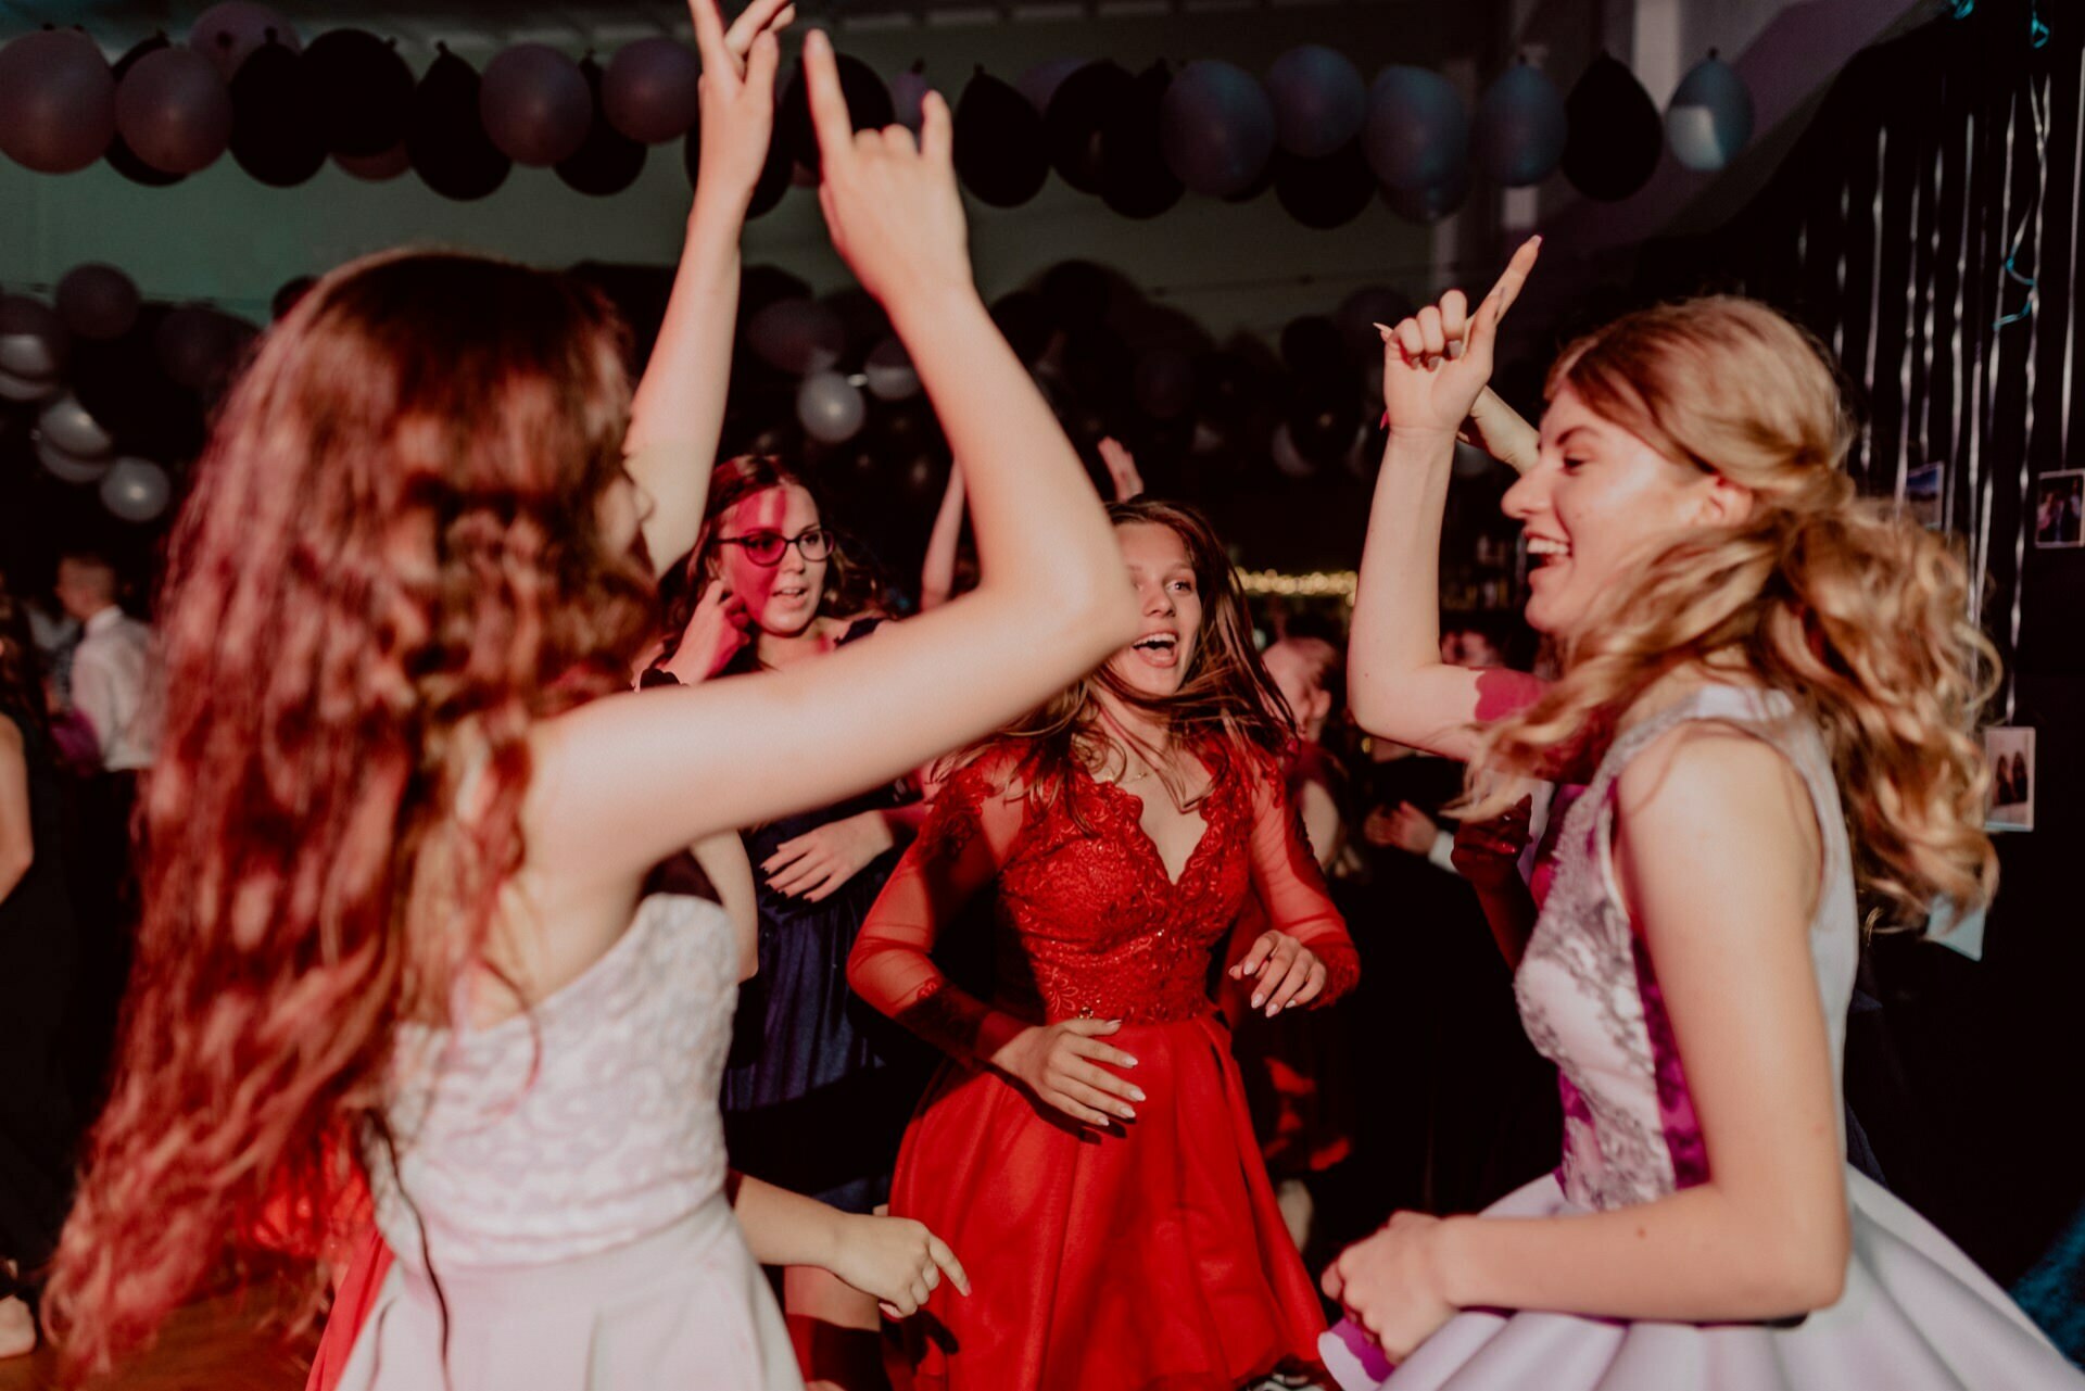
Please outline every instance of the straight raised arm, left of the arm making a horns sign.
M788 0L753 0L726 31L717 0L688 0L703 52L701 165L659 342L630 400L623 453L644 490L644 548L663 574L694 544L723 432L738 317L738 234L774 129Z

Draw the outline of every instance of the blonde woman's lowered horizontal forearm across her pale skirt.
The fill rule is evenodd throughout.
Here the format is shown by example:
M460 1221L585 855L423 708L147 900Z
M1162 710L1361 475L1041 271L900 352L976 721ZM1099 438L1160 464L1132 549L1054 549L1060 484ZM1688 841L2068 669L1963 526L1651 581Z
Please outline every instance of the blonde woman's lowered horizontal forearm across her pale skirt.
M1449 1218L1441 1291L1457 1308L1739 1322L1824 1308L1845 1278L1845 1203L1739 1205L1714 1185L1568 1218Z

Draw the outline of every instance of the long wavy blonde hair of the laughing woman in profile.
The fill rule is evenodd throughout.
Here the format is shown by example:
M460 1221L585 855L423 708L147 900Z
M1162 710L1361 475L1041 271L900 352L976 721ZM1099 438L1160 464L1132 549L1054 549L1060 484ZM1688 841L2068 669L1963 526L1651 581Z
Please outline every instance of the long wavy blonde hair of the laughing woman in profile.
M1935 899L1985 903L1989 770L1977 717L1997 655L1968 621L1960 555L1845 473L1851 421L1824 346L1753 300L1712 296L1616 319L1570 344L1570 388L1666 459L1753 494L1601 594L1564 676L1480 734L1470 801L1570 761L1660 676L1737 667L1793 697L1831 751L1868 922L1920 926Z

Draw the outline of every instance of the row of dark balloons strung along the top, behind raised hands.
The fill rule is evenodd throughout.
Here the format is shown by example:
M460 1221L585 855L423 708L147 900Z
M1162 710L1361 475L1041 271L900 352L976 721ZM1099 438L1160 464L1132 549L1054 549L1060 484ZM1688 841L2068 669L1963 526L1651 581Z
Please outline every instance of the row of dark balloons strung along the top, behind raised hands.
M77 29L25 33L0 50L0 150L44 173L106 158L142 184L173 184L225 152L263 184L311 179L327 158L361 179L407 169L448 198L484 198L513 165L555 169L586 194L628 188L648 146L684 140L696 163L701 65L646 38L603 65L515 44L480 75L440 48L413 77L390 42L332 29L302 44L254 0L223 0L188 44L154 35L115 65ZM917 127L928 83L915 67L888 86L840 58L855 125ZM1336 227L1380 194L1401 217L1439 221L1470 192L1472 163L1503 188L1564 175L1591 198L1643 188L1670 146L1720 169L1751 136L1751 96L1712 52L1658 113L1643 83L1601 54L1566 98L1516 63L1472 113L1439 73L1393 65L1364 83L1332 48L1295 48L1255 77L1224 60L1122 65L1063 58L1015 83L982 67L955 106L955 163L992 206L1020 206L1049 173L1124 217L1157 217L1186 192L1249 200L1274 190L1307 227ZM784 94L765 213L817 167L801 75Z

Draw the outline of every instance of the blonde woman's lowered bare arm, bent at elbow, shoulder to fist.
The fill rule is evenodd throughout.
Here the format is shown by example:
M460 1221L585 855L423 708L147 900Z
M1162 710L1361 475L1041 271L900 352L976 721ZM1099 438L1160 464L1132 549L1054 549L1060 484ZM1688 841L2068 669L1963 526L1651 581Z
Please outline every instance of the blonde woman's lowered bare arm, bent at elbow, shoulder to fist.
M1810 957L1810 799L1770 747L1681 730L1622 774L1616 824L1618 888L1664 993L1710 1178L1587 1216L1401 1214L1326 1276L1391 1358L1453 1308L1739 1322L1839 1297L1849 1226L1824 1011L1841 1003L1820 999Z

